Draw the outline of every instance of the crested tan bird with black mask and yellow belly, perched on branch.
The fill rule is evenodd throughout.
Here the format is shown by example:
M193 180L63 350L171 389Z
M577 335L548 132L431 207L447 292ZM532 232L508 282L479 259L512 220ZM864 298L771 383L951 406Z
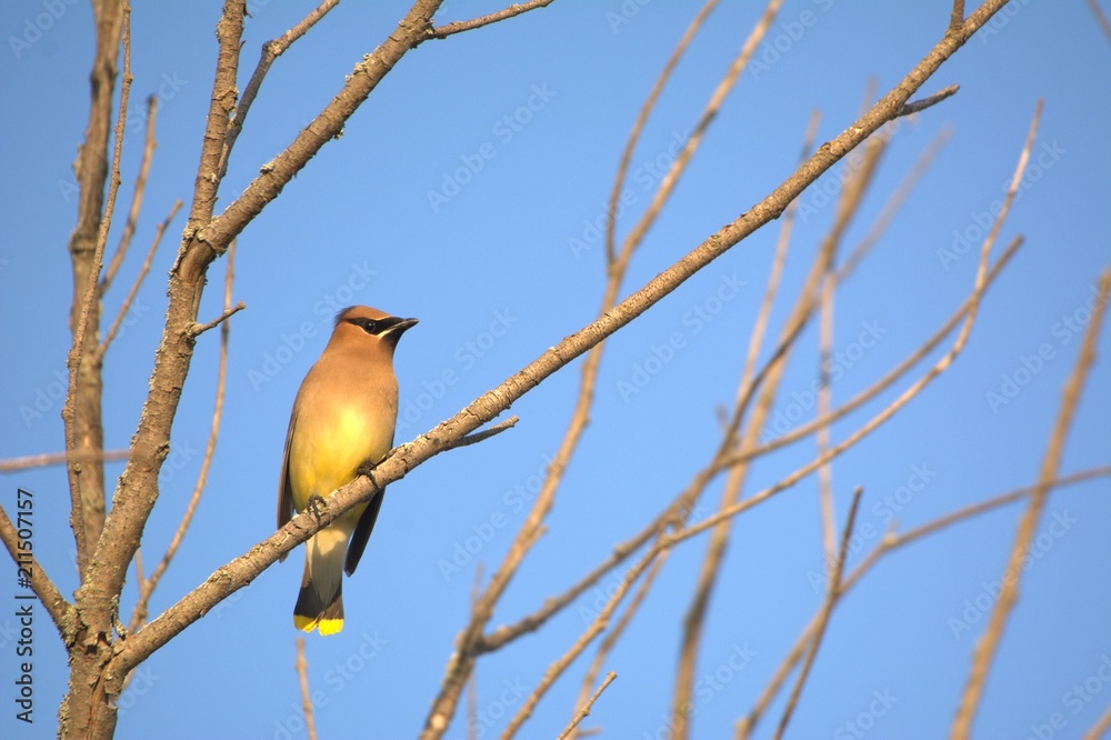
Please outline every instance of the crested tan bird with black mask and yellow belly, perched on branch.
M279 529L294 510L304 511L312 499L350 483L364 463L381 461L393 448L393 350L416 323L366 306L336 317L332 338L293 401L278 487ZM298 629L319 629L321 634L343 629L341 572L350 576L359 564L384 494L379 491L306 543L304 576L293 607Z

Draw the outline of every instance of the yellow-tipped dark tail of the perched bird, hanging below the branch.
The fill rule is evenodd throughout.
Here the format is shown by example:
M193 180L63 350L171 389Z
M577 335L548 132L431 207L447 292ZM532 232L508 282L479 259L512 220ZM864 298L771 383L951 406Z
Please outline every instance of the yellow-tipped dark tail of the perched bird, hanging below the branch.
M309 540L304 576L293 607L299 630L334 634L343 629L343 559L350 532L329 527Z

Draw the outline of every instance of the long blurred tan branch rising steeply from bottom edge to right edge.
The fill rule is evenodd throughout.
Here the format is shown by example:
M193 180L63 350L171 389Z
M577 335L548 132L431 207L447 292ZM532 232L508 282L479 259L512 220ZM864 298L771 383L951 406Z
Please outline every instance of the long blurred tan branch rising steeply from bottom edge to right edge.
M1014 609L1019 598L1019 582L1022 571L1025 570L1024 561L1030 551L1030 543L1033 541L1038 530L1038 522L1041 519L1042 510L1049 498L1050 487L1057 478L1057 471L1061 467L1061 458L1064 453L1065 439L1072 428L1072 419L1080 397L1083 393L1084 382L1088 380L1088 372L1095 360L1095 343L1099 337L1100 327L1103 323L1103 314L1107 309L1108 296L1111 293L1111 268L1105 270L1100 278L1099 300L1092 309L1092 318L1084 331L1083 343L1080 348L1080 356L1061 391L1061 410L1057 418L1053 432L1050 436L1045 457L1042 460L1041 473L1038 487L1030 496L1030 504L1023 513L1022 520L1014 537L1014 547L1011 550L1010 561L1007 566L1007 574L1003 577L1003 586L995 606L992 609L991 618L983 637L977 643L972 657L972 667L969 671L969 680L964 692L961 696L957 717L953 719L953 727L950 737L957 740L965 740L972 733L972 722L975 719L977 709L983 696L983 688L988 681L988 673L991 670L992 660L999 650L1000 640L1003 638L1003 629Z

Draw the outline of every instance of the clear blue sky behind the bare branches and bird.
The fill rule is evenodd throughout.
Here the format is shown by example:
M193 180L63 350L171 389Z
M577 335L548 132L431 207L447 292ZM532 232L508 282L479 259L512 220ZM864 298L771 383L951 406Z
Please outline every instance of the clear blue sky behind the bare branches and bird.
M497 7L474 4L448 2L441 18ZM106 297L110 317L156 224L177 198L188 209L213 74L219 6L209 6L156 3L133 11L136 126L128 134L110 246L130 198L148 94L160 98L158 150L132 253ZM779 184L793 169L812 109L821 111L824 141L855 118L871 76L881 91L897 83L940 38L949 7L784 3L758 63L723 106L634 259L627 291ZM241 87L260 44L308 9L278 0L251 3ZM218 211L331 99L403 11L400 3L343 3L276 62L237 144ZM154 612L272 532L289 409L336 307L368 303L421 320L397 356L399 442L452 416L593 318L604 274L590 224L602 213L639 107L693 12L691 3L560 0L426 43L374 91L343 137L249 226L239 241L234 287L234 299L248 308L232 320L220 442L193 527L152 600ZM758 13L753 3L723 3L679 66L633 157L633 194L620 232L649 202L669 148L692 128ZM62 447L58 378L70 341L71 163L87 117L92 37L86 4L62 0L6 2L0 29L0 157L7 173L0 178L0 343L9 348L0 357L0 457L9 458ZM861 548L850 567L888 527L905 530L1033 481L1088 301L1111 257L1111 99L1102 92L1109 78L1111 44L1083 3L1015 2L923 88L958 83L960 92L904 121L892 137L849 246L863 237L938 131L952 130L914 198L838 298L834 346L845 360L834 401L882 377L968 294L975 248L960 256L962 234L974 234L1002 197L1034 104L1045 100L1032 163L999 247L1020 233L1025 244L988 294L969 347L913 404L834 464L839 522L852 489L864 488ZM830 172L824 182L835 177ZM832 218L818 194L822 184L802 197L812 208L795 227L788 294L801 284ZM126 447L136 429L182 224L179 217L171 226L107 356L109 448ZM611 340L591 424L549 531L491 627L532 611L593 567L709 458L719 436L715 409L733 397L775 237L775 224L753 234ZM220 310L223 270L220 261L209 273L202 319ZM772 332L785 316L784 302L773 311ZM1103 339L1105 348L1105 330ZM663 346L674 350L669 361L630 392L638 368ZM778 412L812 413L805 407L815 346L810 328L784 378ZM198 344L159 504L146 530L148 563L164 549L200 467L217 350L214 332ZM474 568L481 562L489 573L523 520L537 477L565 428L578 367L518 402L512 413L521 421L513 431L443 454L390 488L362 566L346 584L344 631L309 640L310 682L323 696L317 710L321 737L397 738L420 729L468 611ZM1012 398L993 400L991 393L1003 396L1008 382L1015 386ZM905 384L835 424L834 440ZM1101 359L1064 472L1108 463L1109 390L1111 370ZM761 460L749 492L812 454L813 442L805 441ZM121 463L110 463L109 480L120 470ZM70 594L77 579L63 471L24 471L3 482L0 503L9 511L17 487L34 492L36 549ZM1111 664L1109 492L1111 486L1100 480L1050 499L978 736L1024 738L1060 716L1053 737L1079 737L1111 703L1111 669L1103 668ZM719 487L708 493L709 506L719 493ZM834 613L792 734L853 737L849 722L872 737L944 733L1020 513L1021 506L1000 509L880 564ZM667 737L669 676L704 542L695 539L670 557L607 664L619 678L588 726L602 727L608 737ZM443 564L453 557L458 572ZM121 698L118 737L303 737L290 619L300 560L297 552L267 570L148 661ZM813 478L738 520L707 622L695 737L723 737L752 706L820 604L811 576L821 562ZM0 613L10 613L14 602L10 572L0 578ZM126 606L134 597L133 580ZM537 684L584 629L582 614L614 583L605 579L541 633L482 659L480 737L500 732L520 691ZM0 666L11 693L12 618L0 619ZM44 614L36 630L36 723L27 728L6 710L3 737L54 733L67 681L64 652ZM562 728L587 660L557 684L521 737L553 737ZM0 698L11 707L7 696ZM770 736L781 709L781 702L773 704L758 737ZM448 737L466 737L461 718Z

